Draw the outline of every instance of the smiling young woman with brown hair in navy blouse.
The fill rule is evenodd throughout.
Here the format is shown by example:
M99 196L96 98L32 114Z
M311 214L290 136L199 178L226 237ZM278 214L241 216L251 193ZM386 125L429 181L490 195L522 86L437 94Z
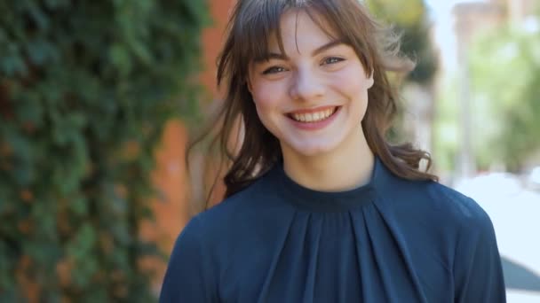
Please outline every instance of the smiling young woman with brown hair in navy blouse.
M358 0L238 0L218 65L226 197L180 234L162 302L503 302L488 215L385 141L407 63ZM429 166L428 166L429 167Z

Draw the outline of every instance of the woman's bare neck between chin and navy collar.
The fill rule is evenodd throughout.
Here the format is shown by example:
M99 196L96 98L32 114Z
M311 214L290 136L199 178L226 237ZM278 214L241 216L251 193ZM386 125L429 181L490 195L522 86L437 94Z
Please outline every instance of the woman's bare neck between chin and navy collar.
M283 169L296 183L321 191L352 190L369 183L375 157L363 132L350 146L315 156L283 152Z

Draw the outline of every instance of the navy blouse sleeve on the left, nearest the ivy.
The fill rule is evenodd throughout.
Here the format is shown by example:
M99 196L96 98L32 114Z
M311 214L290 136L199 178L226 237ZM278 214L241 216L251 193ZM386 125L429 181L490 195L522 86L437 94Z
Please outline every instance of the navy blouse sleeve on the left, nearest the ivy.
M210 252L203 247L201 227L195 217L176 240L163 279L160 303L218 301Z

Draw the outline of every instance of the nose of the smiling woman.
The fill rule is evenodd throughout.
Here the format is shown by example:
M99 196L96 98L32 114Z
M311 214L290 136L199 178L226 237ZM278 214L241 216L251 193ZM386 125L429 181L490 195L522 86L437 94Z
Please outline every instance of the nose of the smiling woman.
M298 69L290 85L290 97L293 100L310 101L324 95L324 84L314 71Z

